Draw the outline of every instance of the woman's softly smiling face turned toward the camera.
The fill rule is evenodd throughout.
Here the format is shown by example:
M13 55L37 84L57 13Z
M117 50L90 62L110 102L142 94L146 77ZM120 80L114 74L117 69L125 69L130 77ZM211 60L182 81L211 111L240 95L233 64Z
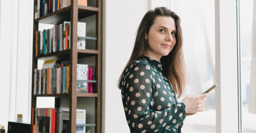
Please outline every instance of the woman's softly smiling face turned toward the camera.
M168 55L175 46L176 33L176 25L172 17L157 16L145 36L149 44L147 54L158 59Z

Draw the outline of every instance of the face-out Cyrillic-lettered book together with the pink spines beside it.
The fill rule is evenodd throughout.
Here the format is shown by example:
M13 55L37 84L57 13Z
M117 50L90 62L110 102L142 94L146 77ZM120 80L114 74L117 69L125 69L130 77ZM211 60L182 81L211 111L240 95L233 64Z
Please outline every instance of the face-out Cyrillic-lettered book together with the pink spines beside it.
M95 66L77 64L77 91L79 93L96 93Z

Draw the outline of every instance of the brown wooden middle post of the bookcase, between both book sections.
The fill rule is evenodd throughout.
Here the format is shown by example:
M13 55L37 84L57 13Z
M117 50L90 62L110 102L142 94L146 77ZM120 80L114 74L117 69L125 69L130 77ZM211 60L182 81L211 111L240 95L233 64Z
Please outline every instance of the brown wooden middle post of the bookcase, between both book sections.
M76 133L76 107L77 107L77 92L76 92L76 69L77 69L77 22L78 22L78 2L71 1L71 91L69 102L69 132Z

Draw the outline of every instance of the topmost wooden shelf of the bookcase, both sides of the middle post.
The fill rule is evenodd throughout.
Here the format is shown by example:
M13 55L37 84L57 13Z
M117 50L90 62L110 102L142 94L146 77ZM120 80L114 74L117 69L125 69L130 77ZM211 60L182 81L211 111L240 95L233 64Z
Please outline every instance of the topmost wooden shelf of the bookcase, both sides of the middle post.
M99 12L99 8L91 6L81 6L78 5L78 19L89 17L95 15ZM56 12L48 13L38 19L35 19L35 22L47 23L47 24L59 24L63 21L71 20L71 5L65 7Z

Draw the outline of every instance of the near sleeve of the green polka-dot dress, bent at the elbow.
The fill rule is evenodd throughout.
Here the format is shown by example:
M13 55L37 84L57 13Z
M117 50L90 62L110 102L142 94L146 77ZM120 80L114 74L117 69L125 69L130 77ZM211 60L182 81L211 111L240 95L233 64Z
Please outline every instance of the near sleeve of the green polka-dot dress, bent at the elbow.
M124 110L128 114L128 125L131 132L170 130L170 128L178 128L178 125L185 119L184 103L173 104L169 108L153 111L154 87L150 69L152 68L146 64L137 64L131 67L123 83L125 91L122 91L122 95L127 98L127 108L124 107Z

